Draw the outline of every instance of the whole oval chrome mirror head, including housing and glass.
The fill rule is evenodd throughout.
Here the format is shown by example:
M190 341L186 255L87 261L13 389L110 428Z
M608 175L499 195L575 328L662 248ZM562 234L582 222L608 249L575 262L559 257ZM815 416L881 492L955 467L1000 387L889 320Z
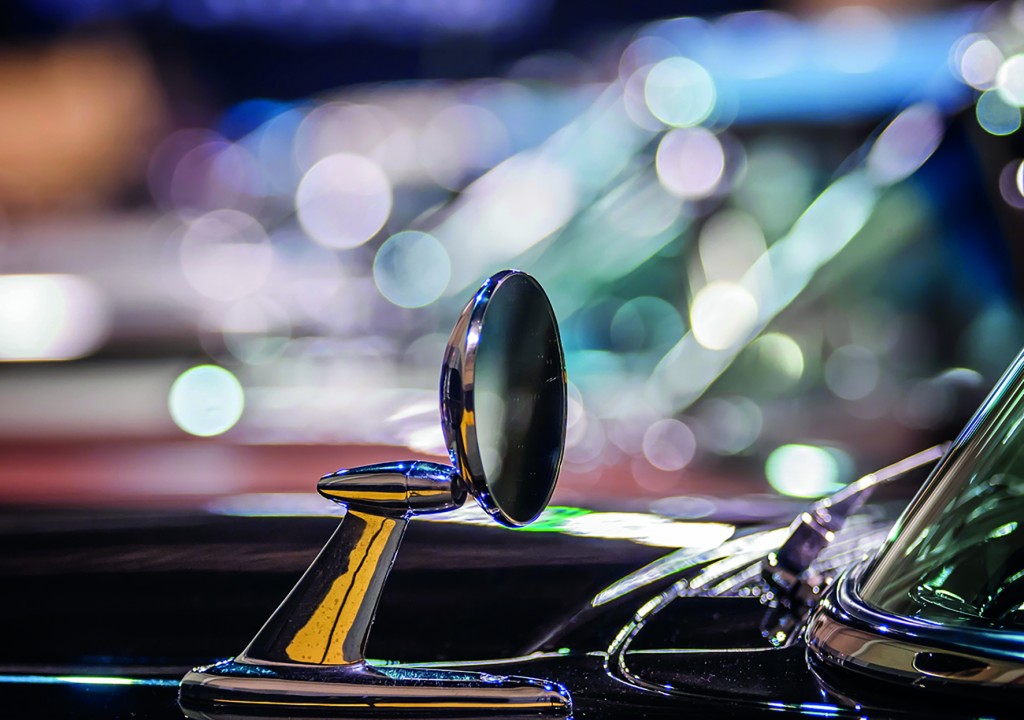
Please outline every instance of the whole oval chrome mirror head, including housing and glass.
M548 296L525 272L493 276L463 310L441 366L452 462L506 525L537 519L565 444L565 359Z

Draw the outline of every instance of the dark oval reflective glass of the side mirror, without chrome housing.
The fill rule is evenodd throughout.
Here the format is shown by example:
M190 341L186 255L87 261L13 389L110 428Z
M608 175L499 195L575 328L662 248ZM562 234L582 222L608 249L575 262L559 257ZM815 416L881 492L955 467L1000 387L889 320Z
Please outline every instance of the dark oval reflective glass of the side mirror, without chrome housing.
M540 514L565 436L558 327L532 278L513 273L487 301L473 362L473 416L490 500L514 524Z

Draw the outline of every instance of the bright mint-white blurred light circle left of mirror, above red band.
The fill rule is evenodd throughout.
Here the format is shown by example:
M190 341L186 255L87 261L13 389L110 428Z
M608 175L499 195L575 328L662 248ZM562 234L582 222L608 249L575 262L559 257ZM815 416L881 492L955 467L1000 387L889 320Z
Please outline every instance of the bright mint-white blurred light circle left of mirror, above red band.
M209 437L231 429L246 399L242 384L214 365L186 370L171 385L167 405L174 423L190 435Z

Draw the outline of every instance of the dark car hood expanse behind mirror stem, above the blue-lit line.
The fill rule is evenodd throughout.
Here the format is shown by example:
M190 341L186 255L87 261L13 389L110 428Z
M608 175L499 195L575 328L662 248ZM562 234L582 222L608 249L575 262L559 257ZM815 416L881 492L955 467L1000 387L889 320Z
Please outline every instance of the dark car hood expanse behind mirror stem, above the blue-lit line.
M202 511L4 512L0 668L183 672L234 654L337 524ZM666 552L626 540L414 522L369 655L423 662L530 651L603 588Z

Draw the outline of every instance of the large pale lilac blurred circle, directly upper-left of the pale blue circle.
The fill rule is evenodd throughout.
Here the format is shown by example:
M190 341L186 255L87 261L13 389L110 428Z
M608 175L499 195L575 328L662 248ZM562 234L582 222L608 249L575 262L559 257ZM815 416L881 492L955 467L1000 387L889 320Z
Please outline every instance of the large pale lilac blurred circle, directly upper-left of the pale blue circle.
M329 248L354 248L377 235L391 214L391 182L380 166L342 153L319 161L295 194L299 222Z

